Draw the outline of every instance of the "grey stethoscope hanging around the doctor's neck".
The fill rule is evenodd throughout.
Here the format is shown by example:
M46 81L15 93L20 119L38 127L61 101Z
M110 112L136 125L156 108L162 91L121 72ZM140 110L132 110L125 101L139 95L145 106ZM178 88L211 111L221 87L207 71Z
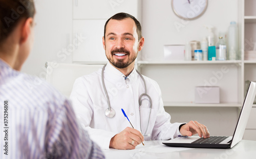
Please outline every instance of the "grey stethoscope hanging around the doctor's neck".
M106 67L106 64L102 67L102 71L101 71L102 85L103 85L104 92L105 92L105 95L106 95L106 101L108 102L108 106L109 106L105 110L105 116L108 117L108 118L113 118L115 116L115 114L116 114L116 111L113 108L111 108L109 95L108 95L108 92L106 92L106 87L105 87L105 83L104 83L104 70L105 70L105 67ZM144 87L145 87L145 93L141 94L140 97L139 97L139 112L141 112L140 111L140 106L141 106L141 102L142 102L141 98L143 96L146 96L150 100L150 110L149 110L149 115L148 115L148 120L147 120L147 126L146 126L145 133L143 133L142 130L141 130L141 113L140 113L140 130L141 130L142 134L145 135L146 132L147 132L148 124L150 123L150 114L151 114L151 108L152 108L152 100L151 100L150 96L148 96L146 94L146 82L145 82L143 76L138 72L138 70L136 70L136 72L140 75L141 79L143 80Z

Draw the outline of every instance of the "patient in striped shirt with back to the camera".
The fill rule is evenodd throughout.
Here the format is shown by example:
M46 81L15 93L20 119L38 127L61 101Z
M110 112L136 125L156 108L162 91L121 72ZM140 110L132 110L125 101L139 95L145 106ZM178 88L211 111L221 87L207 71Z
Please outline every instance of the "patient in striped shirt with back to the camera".
M104 158L69 100L19 72L33 44L34 14L32 0L0 0L0 158Z

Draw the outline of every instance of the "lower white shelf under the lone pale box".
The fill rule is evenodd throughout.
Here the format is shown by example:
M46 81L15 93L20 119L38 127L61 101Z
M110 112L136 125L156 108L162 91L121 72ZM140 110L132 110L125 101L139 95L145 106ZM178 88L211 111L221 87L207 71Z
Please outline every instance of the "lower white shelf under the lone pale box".
M164 102L164 106L170 107L241 107L239 103L220 103L220 104L197 104L189 102ZM256 106L256 104L254 104Z

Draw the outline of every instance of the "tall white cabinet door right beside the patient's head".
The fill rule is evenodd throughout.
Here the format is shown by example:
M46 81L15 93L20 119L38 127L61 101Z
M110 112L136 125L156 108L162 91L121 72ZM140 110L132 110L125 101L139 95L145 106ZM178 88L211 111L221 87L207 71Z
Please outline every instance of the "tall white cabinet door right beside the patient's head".
M69 45L72 44L72 1L35 1L34 46L23 71L45 78L46 61L71 63Z

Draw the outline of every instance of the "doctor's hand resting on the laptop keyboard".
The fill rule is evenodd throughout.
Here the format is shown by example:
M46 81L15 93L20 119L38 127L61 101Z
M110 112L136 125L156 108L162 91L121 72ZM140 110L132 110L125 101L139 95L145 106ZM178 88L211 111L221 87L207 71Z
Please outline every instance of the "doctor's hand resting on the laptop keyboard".
M199 137L209 138L210 132L207 127L203 124L198 123L197 121L190 121L187 124L184 124L180 127L180 133L184 136L191 137L191 135L197 134Z

